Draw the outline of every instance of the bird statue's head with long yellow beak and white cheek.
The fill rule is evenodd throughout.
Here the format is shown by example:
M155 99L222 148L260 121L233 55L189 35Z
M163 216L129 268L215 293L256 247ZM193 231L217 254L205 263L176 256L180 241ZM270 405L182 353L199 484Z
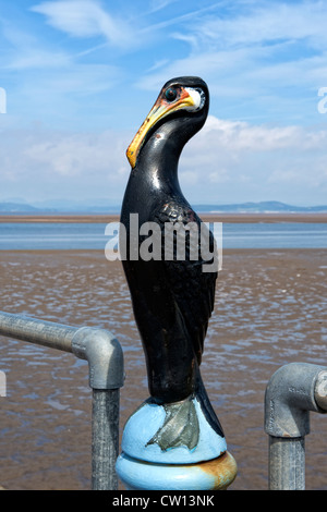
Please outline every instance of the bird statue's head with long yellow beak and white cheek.
M148 136L161 124L170 119L183 118L189 122L190 138L204 125L209 108L209 92L206 83L196 76L182 76L167 82L160 94L140 127L126 156L134 168L138 154ZM185 130L184 123L184 133ZM184 141L185 142L185 141Z

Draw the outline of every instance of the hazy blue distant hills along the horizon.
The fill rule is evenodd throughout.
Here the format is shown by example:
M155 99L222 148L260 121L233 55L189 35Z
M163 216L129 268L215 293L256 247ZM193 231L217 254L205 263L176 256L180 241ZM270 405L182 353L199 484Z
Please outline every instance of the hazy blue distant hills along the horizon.
M71 203L68 200L43 202L29 205L27 203L2 202L0 214L119 214L120 206L110 206L106 199L95 202L97 204ZM240 203L230 205L192 205L196 211L227 212L227 214L322 214L327 212L327 205L322 206L293 206L278 200L259 203Z

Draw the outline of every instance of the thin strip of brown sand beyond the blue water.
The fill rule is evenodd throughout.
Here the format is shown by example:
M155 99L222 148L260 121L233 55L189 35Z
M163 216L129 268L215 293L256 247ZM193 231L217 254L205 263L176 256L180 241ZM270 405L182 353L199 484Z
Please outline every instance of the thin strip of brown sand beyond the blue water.
M306 222L327 223L327 214L206 214L198 212L204 222L230 223L278 223L278 222ZM109 223L119 222L120 215L89 215L89 214L53 214L53 215L0 215L0 223L11 222L70 222L70 223Z

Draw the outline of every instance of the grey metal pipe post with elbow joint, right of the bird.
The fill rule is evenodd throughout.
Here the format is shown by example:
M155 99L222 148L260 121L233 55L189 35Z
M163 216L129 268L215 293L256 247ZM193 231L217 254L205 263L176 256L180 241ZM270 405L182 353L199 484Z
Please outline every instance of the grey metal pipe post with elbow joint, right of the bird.
M291 363L270 378L265 395L269 435L269 489L305 489L305 436L310 411L327 411L327 368Z

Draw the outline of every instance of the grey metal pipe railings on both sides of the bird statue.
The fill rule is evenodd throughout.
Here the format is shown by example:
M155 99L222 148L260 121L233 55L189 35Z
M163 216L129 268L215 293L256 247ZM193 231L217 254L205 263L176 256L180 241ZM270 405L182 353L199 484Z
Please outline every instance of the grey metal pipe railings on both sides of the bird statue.
M107 330L71 327L0 312L0 336L71 352L88 362L92 407L92 489L116 490L119 399L123 353ZM291 363L270 378L265 393L269 436L269 489L305 489L305 436L310 412L327 412L327 367Z

